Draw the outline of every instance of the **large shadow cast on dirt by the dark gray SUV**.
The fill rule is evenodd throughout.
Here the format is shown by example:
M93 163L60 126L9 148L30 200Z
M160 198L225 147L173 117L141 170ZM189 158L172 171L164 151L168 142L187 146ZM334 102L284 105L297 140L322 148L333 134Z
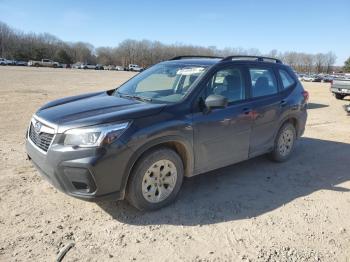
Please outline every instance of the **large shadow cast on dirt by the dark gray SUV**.
M318 190L349 192L350 144L301 138L291 159L265 156L185 179L178 200L161 210L140 212L126 201L98 205L133 225L203 225L262 215Z

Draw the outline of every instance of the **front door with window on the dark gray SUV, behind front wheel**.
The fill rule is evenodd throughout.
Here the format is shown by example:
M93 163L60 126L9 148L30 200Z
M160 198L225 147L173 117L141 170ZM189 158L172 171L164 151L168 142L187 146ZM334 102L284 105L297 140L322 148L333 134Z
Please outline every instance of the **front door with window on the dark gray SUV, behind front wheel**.
M252 125L251 110L246 103L244 69L226 66L218 69L203 85L201 101L211 94L228 99L225 108L193 114L195 171L205 172L248 158Z

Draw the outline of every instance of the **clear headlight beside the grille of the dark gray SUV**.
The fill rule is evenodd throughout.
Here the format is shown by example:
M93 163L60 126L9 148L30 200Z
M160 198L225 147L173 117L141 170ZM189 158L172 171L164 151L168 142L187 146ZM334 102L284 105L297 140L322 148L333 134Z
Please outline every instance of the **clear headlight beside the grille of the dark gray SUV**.
M67 130L65 146L97 147L115 141L129 126L128 122Z

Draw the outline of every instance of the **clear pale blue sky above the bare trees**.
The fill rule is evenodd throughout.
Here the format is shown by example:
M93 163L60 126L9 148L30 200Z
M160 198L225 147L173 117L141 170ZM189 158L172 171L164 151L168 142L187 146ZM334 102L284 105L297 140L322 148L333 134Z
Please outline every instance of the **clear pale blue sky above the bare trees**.
M350 56L350 0L0 0L0 21L64 41L125 39Z

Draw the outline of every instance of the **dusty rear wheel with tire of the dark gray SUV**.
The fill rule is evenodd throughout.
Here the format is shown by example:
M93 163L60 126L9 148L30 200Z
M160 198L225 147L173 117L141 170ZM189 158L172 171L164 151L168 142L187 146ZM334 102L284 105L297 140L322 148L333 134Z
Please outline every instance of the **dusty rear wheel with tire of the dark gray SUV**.
M293 124L285 123L277 133L274 148L270 153L270 159L275 162L288 160L294 151L296 130Z

